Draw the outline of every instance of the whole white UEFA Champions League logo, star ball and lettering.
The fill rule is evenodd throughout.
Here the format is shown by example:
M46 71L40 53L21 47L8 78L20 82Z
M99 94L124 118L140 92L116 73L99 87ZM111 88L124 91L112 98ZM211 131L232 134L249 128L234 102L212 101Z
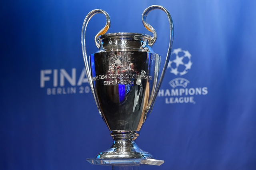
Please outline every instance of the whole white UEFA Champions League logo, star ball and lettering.
M192 55L188 50L182 50L182 48L174 49L171 53L170 61L168 63L167 69L170 69L170 73L175 76L182 76L188 73L191 69ZM195 95L207 95L207 87L189 87L190 81L182 77L177 77L169 81L168 83L171 89L160 89L158 97L166 97L166 104L176 104L176 103L193 103L196 104L194 100Z

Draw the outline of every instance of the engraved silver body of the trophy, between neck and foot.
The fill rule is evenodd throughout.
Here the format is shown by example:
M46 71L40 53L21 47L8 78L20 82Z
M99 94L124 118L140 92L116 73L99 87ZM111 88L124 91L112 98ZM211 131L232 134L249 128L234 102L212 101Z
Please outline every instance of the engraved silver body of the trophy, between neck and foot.
M159 55L140 51L90 55L93 89L110 130L140 130L155 94L159 61Z

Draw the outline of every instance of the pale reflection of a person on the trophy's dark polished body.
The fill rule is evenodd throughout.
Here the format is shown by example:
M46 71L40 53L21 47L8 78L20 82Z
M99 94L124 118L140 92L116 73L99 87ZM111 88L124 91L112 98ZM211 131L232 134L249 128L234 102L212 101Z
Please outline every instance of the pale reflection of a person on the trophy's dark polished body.
M136 106L140 107L140 105L138 105L139 103L139 98L142 97L142 91L143 91L143 86L142 86L142 80L143 80L143 76L146 74L146 71L142 70L141 73L139 73L140 76L138 76L139 78L136 80L136 89L135 89L135 95L134 95L134 105L133 105L133 112L135 111ZM138 108L139 110L140 108Z

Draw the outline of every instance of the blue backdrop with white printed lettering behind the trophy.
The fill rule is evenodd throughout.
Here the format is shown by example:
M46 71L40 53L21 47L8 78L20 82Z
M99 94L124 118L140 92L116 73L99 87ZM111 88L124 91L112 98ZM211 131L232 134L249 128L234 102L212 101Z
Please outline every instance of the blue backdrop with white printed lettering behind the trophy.
M0 2L0 169L109 170L86 158L112 145L86 75L81 29L91 10L106 10L111 32L152 35L141 22L153 4L174 21L170 64L137 144L162 166L142 170L256 169L256 1L16 0ZM148 23L164 58L168 19ZM87 53L106 20L87 30Z

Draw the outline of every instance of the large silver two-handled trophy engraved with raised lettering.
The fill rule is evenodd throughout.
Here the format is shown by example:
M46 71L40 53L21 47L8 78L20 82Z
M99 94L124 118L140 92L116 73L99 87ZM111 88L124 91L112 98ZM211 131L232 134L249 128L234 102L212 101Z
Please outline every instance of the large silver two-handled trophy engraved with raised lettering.
M170 43L161 75L161 57L152 50L156 31L146 22L148 13L155 9L163 10L170 23ZM98 13L104 14L107 22L94 39L98 51L88 57L86 27ZM82 51L88 81L100 115L114 139L114 144L96 159L153 159L135 140L156 101L170 59L174 30L170 13L158 5L144 10L142 23L153 37L137 33L105 34L110 27L110 16L100 9L92 10L84 20Z

